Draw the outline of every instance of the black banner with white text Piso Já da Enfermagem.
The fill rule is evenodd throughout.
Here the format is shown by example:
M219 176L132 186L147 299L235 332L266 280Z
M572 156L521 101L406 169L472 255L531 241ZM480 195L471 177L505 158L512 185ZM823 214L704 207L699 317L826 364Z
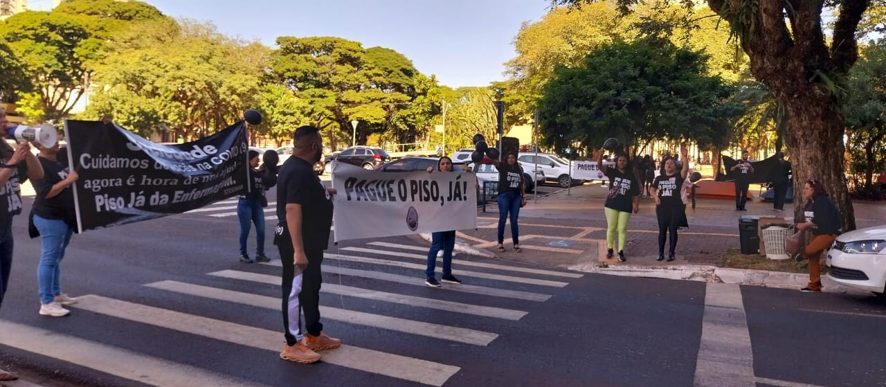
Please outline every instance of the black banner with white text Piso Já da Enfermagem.
M243 121L192 143L152 143L117 125L66 120L80 231L184 213L247 190ZM67 160L66 160L67 161Z

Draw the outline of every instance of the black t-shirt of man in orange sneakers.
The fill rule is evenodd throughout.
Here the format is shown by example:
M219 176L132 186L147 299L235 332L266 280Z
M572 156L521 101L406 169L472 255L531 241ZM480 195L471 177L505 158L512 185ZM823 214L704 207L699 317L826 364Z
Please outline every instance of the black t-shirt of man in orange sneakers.
M328 247L332 227L332 197L314 166L291 157L277 177L277 220L286 221L286 205L301 205L301 237L306 250Z

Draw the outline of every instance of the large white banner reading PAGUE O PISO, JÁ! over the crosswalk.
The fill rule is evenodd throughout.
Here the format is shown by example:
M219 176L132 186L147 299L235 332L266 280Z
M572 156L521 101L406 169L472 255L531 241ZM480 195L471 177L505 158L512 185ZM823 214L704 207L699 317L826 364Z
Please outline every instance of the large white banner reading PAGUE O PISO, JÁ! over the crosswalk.
M477 228L477 178L463 172L378 172L332 165L335 240Z

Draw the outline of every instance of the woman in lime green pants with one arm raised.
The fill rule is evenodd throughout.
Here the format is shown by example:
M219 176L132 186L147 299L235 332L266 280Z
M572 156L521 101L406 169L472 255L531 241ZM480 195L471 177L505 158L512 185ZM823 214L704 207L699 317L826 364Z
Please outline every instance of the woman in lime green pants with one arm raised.
M625 242L627 238L627 223L631 220L631 213L640 211L640 186L637 174L629 167L630 160L627 154L616 156L616 166L610 167L603 164L603 152L600 150L597 156L597 165L600 171L609 177L610 189L606 195L606 204L603 212L606 214L606 258L612 258L615 245L615 235L618 230L618 260L624 262Z

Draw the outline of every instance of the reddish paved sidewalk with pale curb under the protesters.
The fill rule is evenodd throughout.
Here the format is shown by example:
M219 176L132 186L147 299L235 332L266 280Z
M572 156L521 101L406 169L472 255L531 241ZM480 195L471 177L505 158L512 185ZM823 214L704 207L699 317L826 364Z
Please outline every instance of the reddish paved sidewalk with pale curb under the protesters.
M697 281L758 284L772 287L799 288L808 282L808 275L762 270L724 268L723 254L738 249L738 220L742 215L781 217L793 223L793 213L776 212L772 203L756 199L748 203L748 211L736 212L734 201L698 199L696 208L687 208L689 228L680 231L677 256L673 262L656 261L658 253L658 226L655 204L651 198L642 198L640 213L631 217L625 244L626 262L606 259L606 219L603 203L607 190L599 183L558 191L548 197L532 195L520 210L520 246L522 253L512 248L509 223L505 227L506 252L498 252L498 209L478 210L478 228L457 233L456 252L478 254L499 259L513 259L540 265L564 267L573 270L611 275L649 276ZM756 194L756 192L755 192ZM882 223L886 219L886 204L857 202L856 221L859 228ZM429 240L430 236L423 236ZM758 256L766 259L765 256ZM825 289L845 292L842 286L828 284ZM829 285L829 286L828 286Z

